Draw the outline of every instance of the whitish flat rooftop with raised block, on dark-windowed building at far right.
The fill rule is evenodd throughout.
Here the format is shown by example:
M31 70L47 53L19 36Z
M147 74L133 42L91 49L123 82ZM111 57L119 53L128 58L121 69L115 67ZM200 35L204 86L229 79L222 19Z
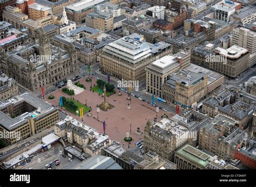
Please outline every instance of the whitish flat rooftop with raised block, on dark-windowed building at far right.
M227 56L228 59L238 59L241 55L248 53L248 50L236 45L231 46L228 49L222 47L217 47L213 50L220 55Z

